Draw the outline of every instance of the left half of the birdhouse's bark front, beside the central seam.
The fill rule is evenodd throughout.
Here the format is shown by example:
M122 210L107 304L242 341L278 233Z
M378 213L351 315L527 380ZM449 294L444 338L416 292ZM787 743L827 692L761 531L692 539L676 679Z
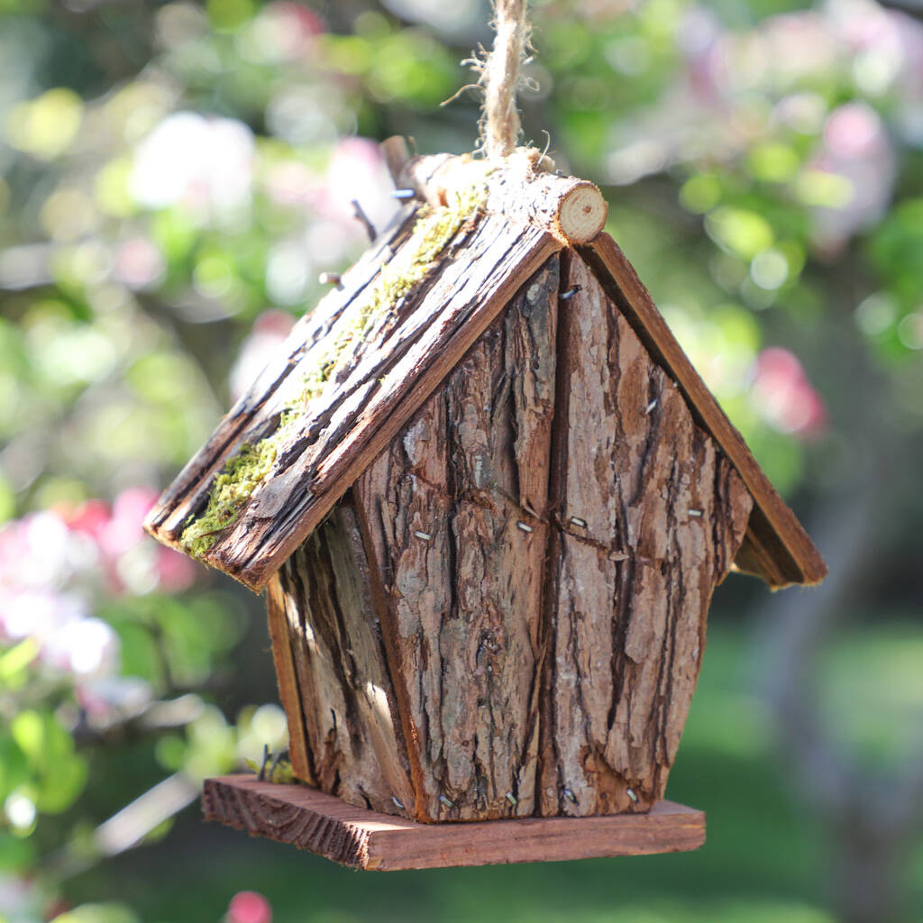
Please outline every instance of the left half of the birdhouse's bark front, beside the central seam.
M416 820L534 810L557 293L552 257L354 485Z

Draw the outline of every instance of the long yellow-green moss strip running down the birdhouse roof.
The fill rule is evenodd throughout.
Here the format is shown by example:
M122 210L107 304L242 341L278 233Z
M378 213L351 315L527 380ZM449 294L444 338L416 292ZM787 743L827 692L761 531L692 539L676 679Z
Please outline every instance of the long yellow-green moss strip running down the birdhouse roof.
M357 306L354 317L306 375L297 397L283 409L275 432L252 445L242 446L215 478L205 511L198 518L189 517L180 537L186 554L203 557L208 553L219 533L234 522L247 499L270 473L282 441L306 404L324 390L343 354L354 351L356 343L366 335L370 321L390 311L426 278L450 240L480 209L485 198L485 186L471 186L456 195L449 206L421 210L410 239L398 257L383 267L369 298Z

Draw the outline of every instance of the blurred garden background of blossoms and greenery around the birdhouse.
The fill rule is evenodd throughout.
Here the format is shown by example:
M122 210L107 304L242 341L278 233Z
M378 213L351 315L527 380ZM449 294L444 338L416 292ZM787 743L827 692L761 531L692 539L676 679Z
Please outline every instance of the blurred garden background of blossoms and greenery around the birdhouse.
M923 6L535 0L527 139L593 179L815 536L716 595L695 854L357 875L205 826L284 744L261 601L145 510L394 208L471 150L485 0L0 0L0 921L923 919ZM247 892L256 892L250 894ZM236 895L236 896L235 896Z

